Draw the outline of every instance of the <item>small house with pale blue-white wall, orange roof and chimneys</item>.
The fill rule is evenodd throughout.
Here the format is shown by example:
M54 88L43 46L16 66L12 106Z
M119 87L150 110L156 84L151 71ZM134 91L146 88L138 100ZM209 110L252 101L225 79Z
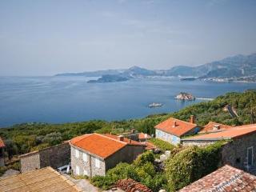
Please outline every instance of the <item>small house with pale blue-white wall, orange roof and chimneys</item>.
M166 142L177 145L181 138L190 134L197 134L201 129L195 124L194 115L190 116L190 122L184 122L177 118L168 118L166 121L159 123L155 128L155 137Z

